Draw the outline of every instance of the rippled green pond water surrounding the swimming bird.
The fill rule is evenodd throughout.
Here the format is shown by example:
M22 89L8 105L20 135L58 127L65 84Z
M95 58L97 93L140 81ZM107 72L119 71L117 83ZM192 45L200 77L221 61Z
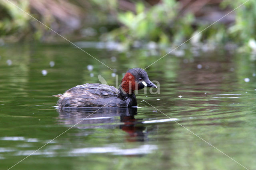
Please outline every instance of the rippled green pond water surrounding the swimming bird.
M147 50L84 50L116 69L119 82L127 69L145 68L161 56ZM218 50L194 57L185 52L146 69L150 80L160 82L160 94L139 91L138 109L100 109L84 119L95 110L59 113L51 96L99 83L98 74L115 86L112 70L69 44L0 47L0 169L60 134L12 169L244 169L237 162L256 169L251 54Z

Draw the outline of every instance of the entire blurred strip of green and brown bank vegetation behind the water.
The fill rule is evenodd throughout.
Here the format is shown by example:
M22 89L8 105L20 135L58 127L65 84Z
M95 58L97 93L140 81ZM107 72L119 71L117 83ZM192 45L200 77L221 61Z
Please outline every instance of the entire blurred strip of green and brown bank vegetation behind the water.
M129 49L174 47L193 37L194 46L232 43L256 51L252 0L2 0L0 43L65 41L10 2L70 40L117 42Z

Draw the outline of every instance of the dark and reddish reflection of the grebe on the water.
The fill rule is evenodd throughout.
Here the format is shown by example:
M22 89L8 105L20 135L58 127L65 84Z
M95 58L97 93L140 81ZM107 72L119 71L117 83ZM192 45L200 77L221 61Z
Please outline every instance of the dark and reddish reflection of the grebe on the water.
M125 137L128 142L146 140L142 119L134 117L137 115L135 107L65 108L59 109L58 112L61 124L77 124L75 127L81 129L119 127L128 133Z

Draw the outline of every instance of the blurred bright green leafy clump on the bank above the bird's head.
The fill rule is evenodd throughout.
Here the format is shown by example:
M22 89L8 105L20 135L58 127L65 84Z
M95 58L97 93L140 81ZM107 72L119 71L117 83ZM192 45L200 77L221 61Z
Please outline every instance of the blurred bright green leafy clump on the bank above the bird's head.
M116 20L120 28L112 30L104 37L106 40L118 40L131 43L135 40L154 41L161 44L182 42L192 34L194 16L179 15L179 4L175 0L163 0L162 3L146 8L142 2L136 3L136 12L119 12Z

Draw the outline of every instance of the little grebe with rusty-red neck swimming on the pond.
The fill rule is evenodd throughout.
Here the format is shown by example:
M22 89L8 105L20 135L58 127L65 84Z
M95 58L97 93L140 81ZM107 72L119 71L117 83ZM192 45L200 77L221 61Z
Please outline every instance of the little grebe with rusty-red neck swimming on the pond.
M145 86L157 88L141 68L129 69L124 75L119 89L104 84L77 85L59 97L58 106L64 107L130 107L137 105L134 90Z

